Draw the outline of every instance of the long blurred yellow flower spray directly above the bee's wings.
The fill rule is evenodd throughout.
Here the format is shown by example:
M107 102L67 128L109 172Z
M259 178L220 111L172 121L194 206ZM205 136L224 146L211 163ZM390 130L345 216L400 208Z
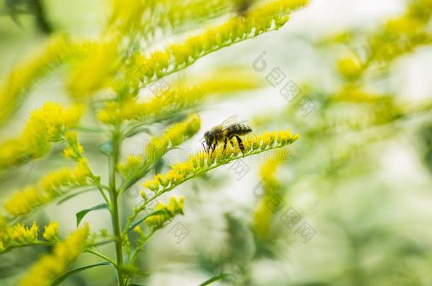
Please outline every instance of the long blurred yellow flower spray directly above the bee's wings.
M136 76L131 76L135 78ZM136 102L129 98L123 102L106 102L98 112L104 124L118 124L125 120L151 123L172 117L200 105L210 95L225 96L241 90L258 88L261 80L243 68L220 69L205 77L193 77L176 83L165 93L159 93L147 102Z

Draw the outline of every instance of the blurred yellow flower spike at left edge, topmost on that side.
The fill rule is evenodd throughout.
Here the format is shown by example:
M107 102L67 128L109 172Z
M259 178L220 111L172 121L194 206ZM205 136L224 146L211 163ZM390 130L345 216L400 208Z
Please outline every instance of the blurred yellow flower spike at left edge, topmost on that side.
M12 114L36 81L67 58L68 48L69 41L66 37L52 37L39 55L14 68L6 81L0 83L0 124Z

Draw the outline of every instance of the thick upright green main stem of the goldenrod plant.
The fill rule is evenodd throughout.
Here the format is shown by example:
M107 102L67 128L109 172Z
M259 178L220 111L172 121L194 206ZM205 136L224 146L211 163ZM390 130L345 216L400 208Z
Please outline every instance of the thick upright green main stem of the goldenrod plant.
M116 128L113 131L113 156L109 160L109 181L110 181L110 201L111 201L111 220L113 223L113 234L115 241L115 255L117 258L117 273L118 273L118 285L125 285L125 280L123 278L122 266L123 266L123 243L122 235L120 232L120 217L118 210L118 192L115 186L115 166L118 163L118 158L120 155L120 141L121 136L119 129Z

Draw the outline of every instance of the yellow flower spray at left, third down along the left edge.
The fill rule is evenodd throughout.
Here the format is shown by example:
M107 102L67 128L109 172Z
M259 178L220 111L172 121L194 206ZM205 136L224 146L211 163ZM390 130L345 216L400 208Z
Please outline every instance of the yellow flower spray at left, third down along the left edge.
M12 216L27 215L35 208L64 193L66 187L79 187L89 184L92 177L86 159L81 159L75 169L62 168L50 172L40 179L38 185L28 186L18 191L4 203L4 208Z

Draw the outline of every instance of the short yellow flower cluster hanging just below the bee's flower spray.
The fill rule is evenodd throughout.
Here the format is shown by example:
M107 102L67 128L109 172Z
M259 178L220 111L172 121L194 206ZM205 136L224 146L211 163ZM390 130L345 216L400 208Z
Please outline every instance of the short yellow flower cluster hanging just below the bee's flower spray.
M165 205L164 203L158 203L154 207L154 211L164 210L165 211L164 214L152 215L151 217L146 218L144 222L149 227L154 227L154 228L162 227L165 222L171 220L171 218L174 218L174 216L178 214L183 215L184 201L185 198L183 196L181 196L180 198L171 196L168 205Z

